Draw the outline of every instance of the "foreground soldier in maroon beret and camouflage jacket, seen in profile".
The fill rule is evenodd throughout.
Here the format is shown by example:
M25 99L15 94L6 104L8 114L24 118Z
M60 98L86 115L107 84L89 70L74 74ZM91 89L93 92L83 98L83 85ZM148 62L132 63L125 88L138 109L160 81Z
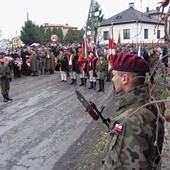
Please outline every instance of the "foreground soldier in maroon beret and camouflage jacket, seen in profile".
M164 121L159 114L165 108L149 104L147 72L147 62L136 54L117 53L113 59L116 111L112 115L111 142L103 170L151 170L159 163L164 139Z

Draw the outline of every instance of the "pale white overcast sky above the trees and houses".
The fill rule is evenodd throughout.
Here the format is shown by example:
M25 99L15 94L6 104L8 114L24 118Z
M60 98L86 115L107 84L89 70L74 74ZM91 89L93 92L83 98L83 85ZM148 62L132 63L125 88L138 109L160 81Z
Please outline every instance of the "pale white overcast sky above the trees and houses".
M97 0L105 18L126 10L134 2L135 9L145 12L156 9L162 0ZM0 39L20 35L27 19L36 25L69 24L81 29L88 17L91 0L3 0L0 9Z

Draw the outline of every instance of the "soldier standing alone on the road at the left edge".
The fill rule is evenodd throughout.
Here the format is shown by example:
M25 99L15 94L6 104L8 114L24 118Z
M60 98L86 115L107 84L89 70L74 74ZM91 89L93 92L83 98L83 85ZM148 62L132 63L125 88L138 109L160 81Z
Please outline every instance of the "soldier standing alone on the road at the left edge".
M8 63L4 62L3 56L0 56L0 85L1 93L4 98L4 102L12 100L9 98L10 82L12 80L11 70Z

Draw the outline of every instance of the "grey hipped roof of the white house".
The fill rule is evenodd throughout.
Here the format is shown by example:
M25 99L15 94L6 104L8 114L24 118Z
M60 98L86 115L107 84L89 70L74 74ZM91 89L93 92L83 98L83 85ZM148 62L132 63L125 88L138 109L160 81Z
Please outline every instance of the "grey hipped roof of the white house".
M149 23L149 24L158 24L164 25L164 22L160 23L160 20L146 14L142 13L133 7L129 7L127 10L120 12L101 23L101 26L109 26L109 25L117 25L117 24L125 24L125 23Z

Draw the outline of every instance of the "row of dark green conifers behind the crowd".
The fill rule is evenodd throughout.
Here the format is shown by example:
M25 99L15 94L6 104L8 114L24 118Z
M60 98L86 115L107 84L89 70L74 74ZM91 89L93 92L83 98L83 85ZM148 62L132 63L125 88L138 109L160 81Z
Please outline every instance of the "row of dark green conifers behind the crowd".
M42 25L38 26L35 25L31 20L27 20L21 30L21 40L26 45L31 45L34 42L44 45L50 45L52 43L50 39L52 34L56 34L58 36L58 43L68 44L81 42L84 35L84 30L70 29L64 37L61 28L44 28Z

